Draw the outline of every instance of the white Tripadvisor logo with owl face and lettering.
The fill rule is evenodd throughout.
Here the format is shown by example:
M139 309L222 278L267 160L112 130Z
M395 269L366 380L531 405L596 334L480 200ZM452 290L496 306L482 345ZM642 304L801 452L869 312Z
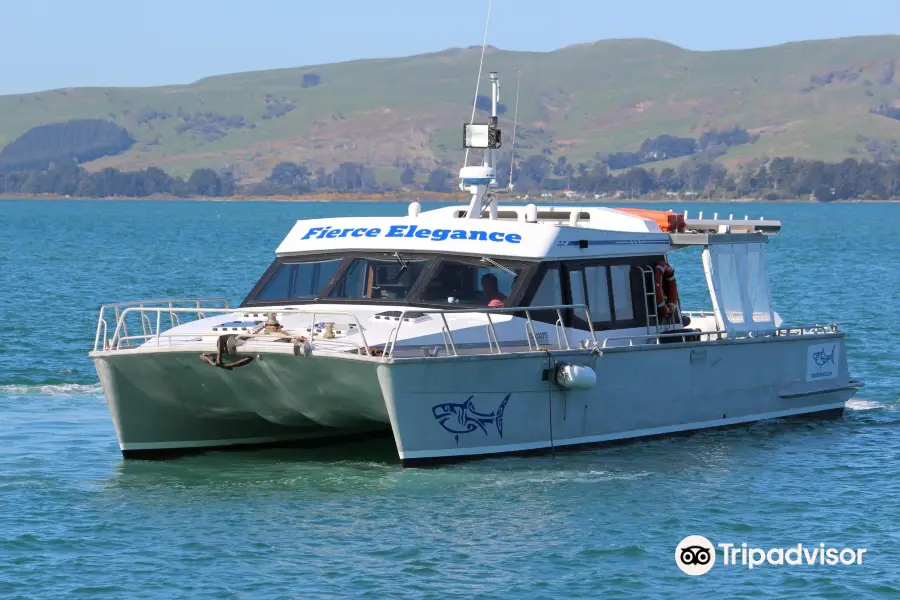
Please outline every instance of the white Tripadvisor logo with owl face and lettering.
M850 566L861 565L866 548L834 548L817 544L797 544L787 548L753 548L747 544L722 543L713 545L702 535L689 535L675 547L675 564L688 575L704 575L716 564L716 547L722 555L722 565L740 565L753 569L773 566Z

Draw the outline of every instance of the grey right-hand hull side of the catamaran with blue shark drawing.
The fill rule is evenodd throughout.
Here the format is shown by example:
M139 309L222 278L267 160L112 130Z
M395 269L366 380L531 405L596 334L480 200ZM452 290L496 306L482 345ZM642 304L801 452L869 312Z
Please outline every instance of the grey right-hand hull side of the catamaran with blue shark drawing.
M838 347L843 357L841 334L651 344L602 356L568 351L459 357L441 369L426 361L407 363L394 367L389 381L382 378L382 388L401 461L421 465L784 417L838 417L857 386L848 380L843 359L833 376L808 380L810 348L823 344ZM597 386L567 391L544 380L558 363L591 367ZM470 398L468 409L457 408ZM471 418L452 416L442 424L448 412Z

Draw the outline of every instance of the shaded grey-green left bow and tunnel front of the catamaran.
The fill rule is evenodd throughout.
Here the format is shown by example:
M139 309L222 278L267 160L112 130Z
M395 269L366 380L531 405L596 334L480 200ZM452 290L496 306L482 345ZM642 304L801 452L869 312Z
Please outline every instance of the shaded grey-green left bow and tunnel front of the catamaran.
M93 358L126 457L315 443L390 428L371 362L271 353L225 370L196 351Z

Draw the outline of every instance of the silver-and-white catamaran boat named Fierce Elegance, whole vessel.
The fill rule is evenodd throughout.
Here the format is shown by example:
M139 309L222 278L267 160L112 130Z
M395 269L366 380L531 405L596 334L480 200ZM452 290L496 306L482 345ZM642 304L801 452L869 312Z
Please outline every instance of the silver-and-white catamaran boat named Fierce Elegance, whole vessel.
M844 334L772 307L780 222L498 205L491 83L468 205L298 221L236 308L101 307L90 356L126 458L393 433L413 466L843 413ZM668 262L696 247L706 312Z

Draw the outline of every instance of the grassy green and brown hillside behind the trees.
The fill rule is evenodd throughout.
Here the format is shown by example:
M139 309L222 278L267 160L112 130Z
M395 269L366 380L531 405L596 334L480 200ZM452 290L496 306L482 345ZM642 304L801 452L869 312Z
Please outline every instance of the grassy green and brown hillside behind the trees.
M252 180L282 160L362 162L384 173L399 173L407 162L432 168L459 160L479 53L451 49L184 86L0 96L0 146L37 125L106 118L137 143L91 169L155 165L184 175L236 165ZM489 50L485 63L501 74L507 144L522 73L517 145L525 154L550 148L570 161L588 160L635 150L662 133L697 137L735 125L760 138L731 148L723 160L732 164L775 155L864 158L873 140L900 139L900 120L870 114L883 103L900 106L900 36L719 52L609 40L547 53ZM319 76L318 85L304 80L309 74Z

